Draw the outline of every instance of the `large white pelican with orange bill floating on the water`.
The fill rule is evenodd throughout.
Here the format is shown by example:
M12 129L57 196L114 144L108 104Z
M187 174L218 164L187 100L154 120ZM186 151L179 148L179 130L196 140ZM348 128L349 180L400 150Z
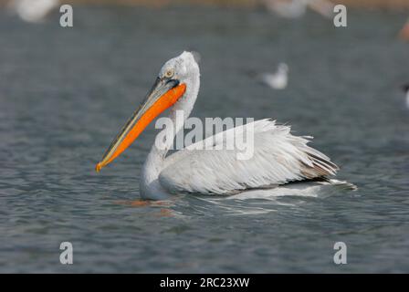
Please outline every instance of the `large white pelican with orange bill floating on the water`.
M138 110L110 143L101 161L100 170L117 158L142 133L149 123L164 110L174 121L173 139L184 123L177 123L177 111L184 120L194 108L199 93L200 71L194 55L184 51L168 60ZM221 100L223 102L223 100ZM311 137L297 137L290 127L275 120L256 120L240 127L252 126L254 153L251 159L237 160L235 150L192 150L185 147L167 155L173 141L163 139L162 131L142 167L140 193L142 199L164 200L175 193L230 195L251 189L276 188L297 181L328 180L335 175L337 165L330 158L307 145ZM164 129L166 130L166 129ZM229 130L236 130L232 128ZM206 138L224 144L231 135L225 130ZM230 138L229 138L230 137Z

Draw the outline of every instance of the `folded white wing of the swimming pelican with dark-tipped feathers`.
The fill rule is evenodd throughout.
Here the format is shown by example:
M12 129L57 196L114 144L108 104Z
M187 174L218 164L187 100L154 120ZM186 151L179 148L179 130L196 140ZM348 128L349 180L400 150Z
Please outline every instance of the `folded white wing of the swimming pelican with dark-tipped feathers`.
M250 159L239 160L240 151L225 150L225 145L235 139L229 135L232 131L237 139L249 129L254 133L254 152ZM232 194L334 175L338 167L310 148L309 139L293 136L288 126L276 125L275 120L257 120L173 153L165 160L159 182L171 193ZM209 144L224 147L206 150Z

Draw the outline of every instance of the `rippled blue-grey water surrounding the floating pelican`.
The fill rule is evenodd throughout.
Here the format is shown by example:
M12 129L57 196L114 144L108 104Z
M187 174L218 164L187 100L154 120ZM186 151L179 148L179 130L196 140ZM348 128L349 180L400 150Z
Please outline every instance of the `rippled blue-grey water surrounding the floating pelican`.
M404 14L348 27L256 9L77 7L33 25L0 11L0 272L409 272L409 44ZM153 127L94 165L163 62L201 53L194 116L273 117L358 190L317 197L180 196L139 206ZM288 63L288 88L255 75ZM70 242L74 263L59 263ZM335 265L333 245L347 245Z

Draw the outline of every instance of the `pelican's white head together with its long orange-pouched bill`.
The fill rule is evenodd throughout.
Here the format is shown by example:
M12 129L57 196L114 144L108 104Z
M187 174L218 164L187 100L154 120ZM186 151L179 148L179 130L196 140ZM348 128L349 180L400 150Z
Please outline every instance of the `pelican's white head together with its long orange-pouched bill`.
M102 160L96 165L96 171L100 172L104 166L120 156L121 152L125 151L164 110L184 104L183 98L187 96L193 78L199 78L199 67L194 60L194 54L185 51L180 56L168 60L159 71L152 89L141 106L133 112L110 143Z

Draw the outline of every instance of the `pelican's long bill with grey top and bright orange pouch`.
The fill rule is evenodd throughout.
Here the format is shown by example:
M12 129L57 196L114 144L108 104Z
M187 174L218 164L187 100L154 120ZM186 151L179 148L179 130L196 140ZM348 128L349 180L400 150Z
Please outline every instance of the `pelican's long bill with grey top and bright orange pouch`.
M104 153L95 170L100 172L104 166L120 156L152 120L164 110L172 107L184 95L185 90L186 85L179 84L177 80L157 78L141 107L133 113L131 119L127 121L117 137L111 142L109 149Z

